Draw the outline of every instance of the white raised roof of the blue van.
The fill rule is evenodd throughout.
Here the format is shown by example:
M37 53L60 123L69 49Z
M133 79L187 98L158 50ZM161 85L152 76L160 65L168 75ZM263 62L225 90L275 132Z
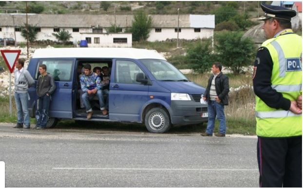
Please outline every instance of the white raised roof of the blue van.
M163 59L155 50L137 48L44 48L37 49L33 58L132 58Z

